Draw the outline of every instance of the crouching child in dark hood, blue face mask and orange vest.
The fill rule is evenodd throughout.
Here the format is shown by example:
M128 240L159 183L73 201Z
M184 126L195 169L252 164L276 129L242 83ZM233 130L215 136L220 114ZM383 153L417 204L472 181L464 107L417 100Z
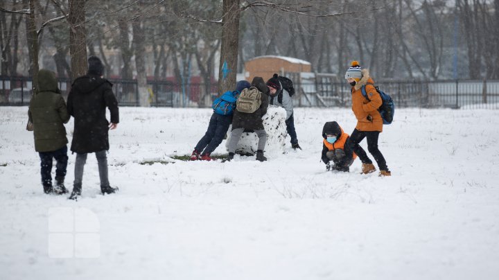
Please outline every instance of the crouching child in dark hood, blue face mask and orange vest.
M326 164L326 169L349 172L350 166L357 155L349 146L349 134L335 121L324 123L322 128L322 161ZM333 165L331 165L333 161Z

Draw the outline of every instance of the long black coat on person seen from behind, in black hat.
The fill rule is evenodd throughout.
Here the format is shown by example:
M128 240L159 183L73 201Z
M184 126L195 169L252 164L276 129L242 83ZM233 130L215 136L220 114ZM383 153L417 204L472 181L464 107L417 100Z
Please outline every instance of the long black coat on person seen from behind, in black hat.
M68 96L68 112L74 117L71 151L82 154L109 150L106 107L111 123L119 123L118 100L111 82L95 75L81 76L73 82Z

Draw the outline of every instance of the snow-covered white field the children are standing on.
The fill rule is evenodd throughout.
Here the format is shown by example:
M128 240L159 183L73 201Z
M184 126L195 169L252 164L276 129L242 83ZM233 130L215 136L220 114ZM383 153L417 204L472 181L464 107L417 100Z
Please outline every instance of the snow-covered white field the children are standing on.
M319 162L324 122L353 130L347 109L295 110L301 151L221 163L172 158L211 110L122 107L120 191L99 194L90 155L78 202L42 192L26 112L0 107L0 279L499 279L499 110L398 109L379 143L392 177L378 177ZM68 241L54 219L77 213L95 219Z

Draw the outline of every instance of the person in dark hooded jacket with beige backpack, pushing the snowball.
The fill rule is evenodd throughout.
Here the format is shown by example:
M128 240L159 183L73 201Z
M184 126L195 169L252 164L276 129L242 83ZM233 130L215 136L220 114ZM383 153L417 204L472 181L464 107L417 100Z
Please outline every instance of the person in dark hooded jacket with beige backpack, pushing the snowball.
M255 112L252 113L239 112L237 108L236 110L234 110L231 137L228 144L229 156L227 157L227 161L231 161L232 159L234 159L234 152L236 152L240 136L245 130L254 131L259 137L258 150L256 151L256 160L267 160L267 157L263 155L265 143L267 143L267 132L265 132L265 128L263 128L262 116L267 114L268 94L269 92L275 91L275 89L270 89L270 87L265 85L265 81L261 77L253 78L251 85L252 87L256 87L256 89L261 92L261 105Z

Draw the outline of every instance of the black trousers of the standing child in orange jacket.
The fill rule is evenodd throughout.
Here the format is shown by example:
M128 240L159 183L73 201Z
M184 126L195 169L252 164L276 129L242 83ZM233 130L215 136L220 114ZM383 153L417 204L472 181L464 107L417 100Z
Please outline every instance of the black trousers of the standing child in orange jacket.
M365 150L362 149L362 147L360 147L359 145L360 141L367 137L367 150L369 150L369 153L373 155L374 160L376 160L376 163L378 164L378 168L380 170L388 171L385 157L383 157L383 154L381 154L380 150L378 149L379 134L379 131L360 131L354 129L352 134L350 135L349 143L353 148L353 152L355 152L360 158L360 161L362 161L362 164L372 164L372 161L371 159L369 159L369 157L367 157Z

